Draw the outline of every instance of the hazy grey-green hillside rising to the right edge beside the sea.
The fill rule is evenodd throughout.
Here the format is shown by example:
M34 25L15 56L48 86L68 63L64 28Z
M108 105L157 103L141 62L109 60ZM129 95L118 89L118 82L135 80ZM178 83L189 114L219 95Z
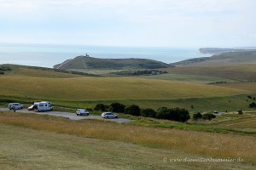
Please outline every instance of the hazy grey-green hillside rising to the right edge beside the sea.
M176 66L241 64L256 64L256 50L229 52L224 54L213 55L212 57L186 59L177 63L172 63L172 65Z

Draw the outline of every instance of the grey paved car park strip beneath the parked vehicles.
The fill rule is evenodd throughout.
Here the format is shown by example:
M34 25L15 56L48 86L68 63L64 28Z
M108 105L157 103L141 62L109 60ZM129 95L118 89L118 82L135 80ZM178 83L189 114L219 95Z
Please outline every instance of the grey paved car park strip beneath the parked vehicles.
M0 111L9 111L8 108L3 108L0 107ZM77 116L74 113L68 113L68 112L61 112L61 111L45 111L45 112L37 112L37 111L27 111L26 109L22 110L16 110L16 112L19 113L35 113L38 115L51 115L51 116L62 116L62 117L67 117L71 120L81 120L81 119L100 119L102 120L103 118L101 116ZM104 119L112 122L119 122L119 123L124 123L124 122L131 122L130 119Z

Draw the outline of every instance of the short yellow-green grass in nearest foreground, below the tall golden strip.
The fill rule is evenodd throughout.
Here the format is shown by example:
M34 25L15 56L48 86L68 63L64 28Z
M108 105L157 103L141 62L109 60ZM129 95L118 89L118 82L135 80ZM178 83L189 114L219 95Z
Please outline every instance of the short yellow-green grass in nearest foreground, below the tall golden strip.
M168 162L164 158L208 156L26 127L0 127L1 169L253 169L240 162Z

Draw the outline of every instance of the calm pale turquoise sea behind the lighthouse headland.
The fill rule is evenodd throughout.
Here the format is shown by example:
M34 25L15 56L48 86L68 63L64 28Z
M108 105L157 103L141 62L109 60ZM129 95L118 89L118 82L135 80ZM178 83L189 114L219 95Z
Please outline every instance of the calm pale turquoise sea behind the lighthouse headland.
M52 44L0 43L0 64L31 65L53 68L67 59L88 54L102 59L154 59L170 64L184 59L209 57L199 48L108 47Z

